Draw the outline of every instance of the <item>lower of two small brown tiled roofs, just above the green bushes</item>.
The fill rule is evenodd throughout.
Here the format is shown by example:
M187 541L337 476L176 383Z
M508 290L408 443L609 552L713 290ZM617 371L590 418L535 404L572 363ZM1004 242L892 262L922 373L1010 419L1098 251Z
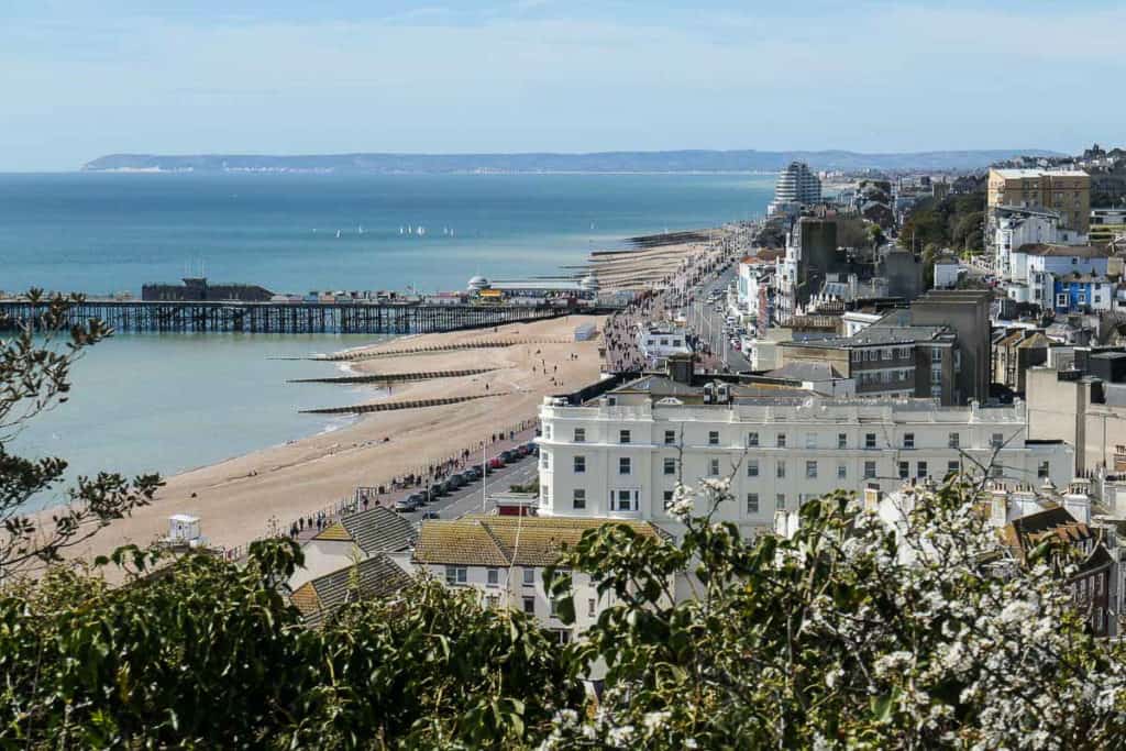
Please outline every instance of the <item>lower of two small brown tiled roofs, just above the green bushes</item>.
M311 579L289 596L305 623L320 626L348 602L386 597L411 583L411 576L385 555L375 555Z

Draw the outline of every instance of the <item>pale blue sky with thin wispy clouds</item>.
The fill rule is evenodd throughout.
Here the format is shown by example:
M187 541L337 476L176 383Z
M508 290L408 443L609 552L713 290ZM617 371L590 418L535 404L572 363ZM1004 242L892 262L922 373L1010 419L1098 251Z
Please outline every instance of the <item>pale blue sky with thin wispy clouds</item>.
M1126 140L1126 3L3 0L0 171Z

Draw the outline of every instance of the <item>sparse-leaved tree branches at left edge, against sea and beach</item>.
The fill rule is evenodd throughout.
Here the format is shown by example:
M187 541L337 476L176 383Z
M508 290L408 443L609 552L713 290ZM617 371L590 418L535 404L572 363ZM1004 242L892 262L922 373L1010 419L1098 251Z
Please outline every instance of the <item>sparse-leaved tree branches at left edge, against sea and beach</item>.
M45 411L64 403L70 393L70 370L87 348L113 331L100 321L68 327L69 309L79 296L45 297L32 289L27 299L37 311L35 321L0 320L0 582L36 566L61 560L62 553L89 539L114 519L152 500L160 485L157 475L129 482L119 474L79 477L63 491L64 502L50 520L26 512L27 502L56 492L66 471L59 457L29 459L9 450L20 430Z

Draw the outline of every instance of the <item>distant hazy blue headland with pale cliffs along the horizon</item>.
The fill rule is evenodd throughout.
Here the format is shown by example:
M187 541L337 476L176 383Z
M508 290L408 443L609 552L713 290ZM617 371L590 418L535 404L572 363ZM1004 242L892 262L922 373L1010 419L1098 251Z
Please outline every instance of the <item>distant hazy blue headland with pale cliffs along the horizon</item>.
M109 154L83 172L296 172L321 175L441 175L548 172L775 172L790 161L815 170L984 169L1017 155L1057 157L1040 149L923 151L865 154L852 151L607 151L524 154Z

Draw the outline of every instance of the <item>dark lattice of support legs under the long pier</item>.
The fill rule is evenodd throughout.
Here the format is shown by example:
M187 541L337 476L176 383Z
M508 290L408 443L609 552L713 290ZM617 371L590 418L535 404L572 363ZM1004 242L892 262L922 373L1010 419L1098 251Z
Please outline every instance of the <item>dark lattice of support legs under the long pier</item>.
M0 331L39 328L47 306L0 299ZM408 334L529 323L568 315L561 306L420 305L87 299L72 304L66 325L98 319L120 333L364 333Z

